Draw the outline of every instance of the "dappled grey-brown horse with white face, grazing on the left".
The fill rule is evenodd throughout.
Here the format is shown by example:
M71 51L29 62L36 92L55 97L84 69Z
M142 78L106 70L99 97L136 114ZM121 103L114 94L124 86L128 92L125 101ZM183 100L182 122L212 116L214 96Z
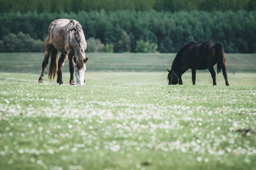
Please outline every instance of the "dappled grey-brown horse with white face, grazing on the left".
M74 72L77 85L84 85L84 72L86 62L84 50L86 41L81 24L76 20L58 19L51 22L48 28L48 35L45 43L44 61L42 63L42 73L38 83L43 83L44 72L51 56L49 68L50 80L57 74L57 83L63 84L62 69L65 60L69 62L70 85L76 85L74 82ZM58 60L58 52L61 52Z

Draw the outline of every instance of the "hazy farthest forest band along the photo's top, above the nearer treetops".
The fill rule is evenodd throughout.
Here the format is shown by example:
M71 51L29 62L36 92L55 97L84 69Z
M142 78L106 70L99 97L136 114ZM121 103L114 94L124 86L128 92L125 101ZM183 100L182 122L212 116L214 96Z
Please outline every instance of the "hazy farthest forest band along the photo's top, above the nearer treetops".
M1 0L0 12L78 12L92 10L239 11L256 10L255 0Z

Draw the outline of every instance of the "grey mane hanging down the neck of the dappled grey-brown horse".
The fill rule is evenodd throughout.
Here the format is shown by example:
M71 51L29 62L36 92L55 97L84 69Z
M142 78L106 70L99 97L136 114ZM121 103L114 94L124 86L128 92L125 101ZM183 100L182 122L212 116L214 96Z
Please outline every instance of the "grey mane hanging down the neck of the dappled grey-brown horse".
M70 24L72 24L72 37L75 41L72 41L72 46L74 48L74 55L76 57L76 66L77 69L83 67L83 56L81 55L81 51L86 49L86 41L84 38L84 32L82 26L76 20L70 20Z

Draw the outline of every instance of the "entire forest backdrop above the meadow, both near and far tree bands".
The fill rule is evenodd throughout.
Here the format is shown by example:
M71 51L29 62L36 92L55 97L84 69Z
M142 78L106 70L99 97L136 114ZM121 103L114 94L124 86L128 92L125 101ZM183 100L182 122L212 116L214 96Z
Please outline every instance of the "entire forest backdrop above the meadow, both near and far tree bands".
M169 53L189 41L213 40L225 52L255 53L255 2L1 0L0 52L44 52L52 20L72 18L83 25L88 52Z

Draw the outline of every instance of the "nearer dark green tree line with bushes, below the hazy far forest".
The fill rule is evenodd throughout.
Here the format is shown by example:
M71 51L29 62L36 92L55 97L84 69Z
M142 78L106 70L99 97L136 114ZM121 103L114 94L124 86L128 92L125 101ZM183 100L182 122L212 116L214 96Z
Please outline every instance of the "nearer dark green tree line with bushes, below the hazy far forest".
M31 51L43 51L48 26L57 18L72 18L81 23L88 52L154 52L147 49L156 49L168 53L177 52L189 41L209 40L220 41L225 52L256 52L256 11L156 10L2 13L0 51L20 52L24 50L20 44L31 45L26 48Z

